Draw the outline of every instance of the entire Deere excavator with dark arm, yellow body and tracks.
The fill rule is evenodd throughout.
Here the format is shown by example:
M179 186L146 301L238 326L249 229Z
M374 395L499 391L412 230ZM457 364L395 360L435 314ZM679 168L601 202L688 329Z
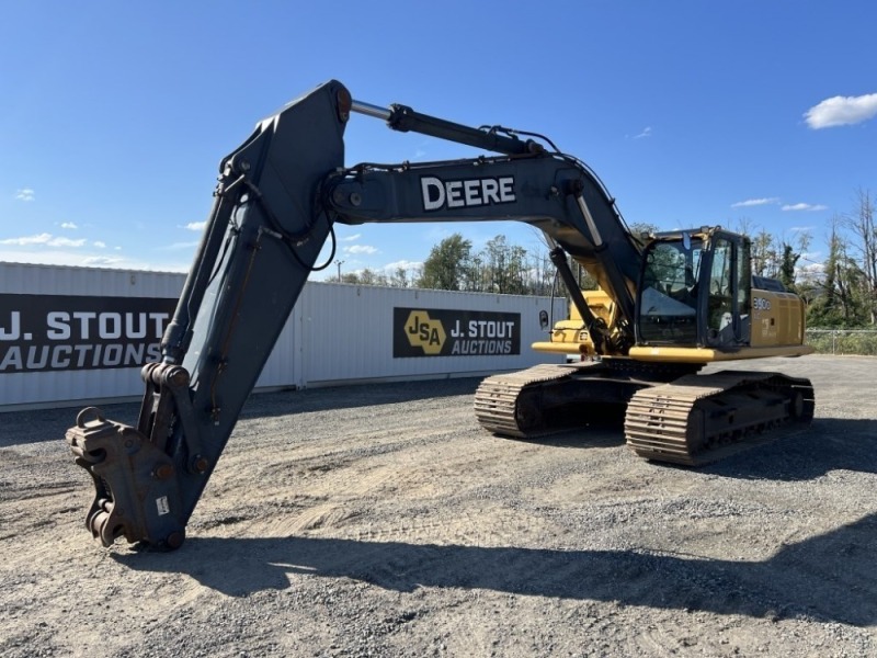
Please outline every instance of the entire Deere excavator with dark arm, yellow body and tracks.
M345 166L353 113L491 155ZM141 372L137 426L89 407L67 432L94 481L86 525L105 546L119 536L183 543L305 282L334 258L337 223L517 220L544 232L571 315L534 348L583 360L488 377L475 413L491 432L532 438L617 411L638 455L698 465L812 418L807 379L698 374L717 361L810 351L801 300L752 275L749 240L720 227L635 236L594 172L544 136L363 103L332 80L261 121L219 171L161 361ZM582 292L570 262L600 290Z

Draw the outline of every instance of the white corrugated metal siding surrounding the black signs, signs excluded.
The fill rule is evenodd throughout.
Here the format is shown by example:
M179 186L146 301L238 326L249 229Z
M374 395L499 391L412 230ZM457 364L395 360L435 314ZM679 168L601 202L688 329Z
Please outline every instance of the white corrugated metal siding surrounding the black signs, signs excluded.
M170 272L0 263L0 294L175 299L184 281L184 274ZM550 313L549 306L539 297L308 283L257 387L483 374L562 361L529 349L545 338L538 314ZM520 313L521 353L394 359L394 307ZM566 317L561 300L555 300L554 317ZM141 394L139 367L0 373L0 408Z

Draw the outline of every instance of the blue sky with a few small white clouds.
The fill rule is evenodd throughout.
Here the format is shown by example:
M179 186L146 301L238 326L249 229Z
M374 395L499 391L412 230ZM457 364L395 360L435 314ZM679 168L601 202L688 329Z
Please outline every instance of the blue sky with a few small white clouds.
M4 2L0 261L187 270L220 159L332 78L548 135L628 223L809 230L819 260L877 190L876 24L864 0ZM346 150L470 155L361 115ZM505 223L341 226L338 260L412 268L455 231L539 247Z

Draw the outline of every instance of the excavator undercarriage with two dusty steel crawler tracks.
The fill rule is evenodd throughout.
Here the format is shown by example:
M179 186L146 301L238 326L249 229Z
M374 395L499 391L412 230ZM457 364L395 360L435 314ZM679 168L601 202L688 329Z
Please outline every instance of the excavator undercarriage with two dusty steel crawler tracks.
M623 421L646 460L699 466L801 429L813 417L808 379L631 360L538 365L485 379L475 413L494 434L535 439ZM687 372L686 372L687 371Z

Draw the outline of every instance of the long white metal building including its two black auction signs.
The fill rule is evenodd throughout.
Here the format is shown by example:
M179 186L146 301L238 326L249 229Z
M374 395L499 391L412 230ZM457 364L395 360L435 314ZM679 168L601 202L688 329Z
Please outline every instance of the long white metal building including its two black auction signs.
M184 274L0 263L0 410L139 397ZM545 297L308 283L257 388L487 375L538 354Z

